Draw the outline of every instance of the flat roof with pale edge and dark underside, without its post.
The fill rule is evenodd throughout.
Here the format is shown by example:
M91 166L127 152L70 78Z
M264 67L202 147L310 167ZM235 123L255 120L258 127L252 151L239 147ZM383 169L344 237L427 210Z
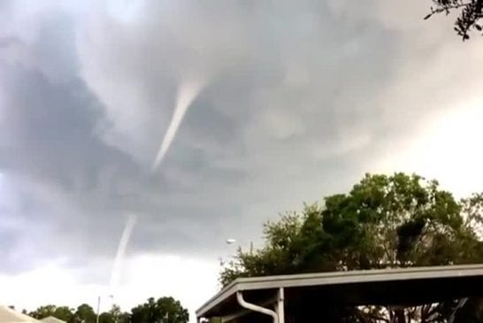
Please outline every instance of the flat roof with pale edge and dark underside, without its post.
M223 288L196 311L197 317L225 316L240 311L236 293L256 304L272 291L290 297L338 304L426 304L482 294L483 264L394 268L333 273L305 273L240 278ZM395 292L396 291L396 292Z

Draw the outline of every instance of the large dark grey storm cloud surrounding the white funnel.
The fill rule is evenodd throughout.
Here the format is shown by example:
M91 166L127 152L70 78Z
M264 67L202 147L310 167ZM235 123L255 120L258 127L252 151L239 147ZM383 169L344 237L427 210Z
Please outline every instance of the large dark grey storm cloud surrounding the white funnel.
M146 22L134 26L102 16L105 29L94 29L100 44L85 41L80 26L80 56L73 20L47 19L34 44L24 45L30 68L3 66L6 102L16 109L4 116L2 168L23 186L38 183L24 199L38 200L37 212L27 213L33 223L51 223L52 242L42 243L40 253L112 254L129 211L141 216L134 251L207 252L227 235L253 235L265 217L302 202L307 189L294 188L313 178L309 171L336 174L330 161L312 160L307 142L316 138L320 150L338 142L338 128L352 123L343 115L345 109L351 116L351 104L343 101L369 96L378 86L378 78L361 83L337 74L388 73L390 52L371 50L389 42L387 35L371 24L357 35L343 28L330 34L326 28L338 21L324 4L151 9L144 8ZM193 23L173 19L180 11ZM211 19L221 19L226 30L216 30ZM359 50L355 40L368 46ZM360 65L366 56L381 57ZM191 72L185 63L209 82L162 169L149 178L146 165L171 113L171 92ZM78 78L78 66L94 93ZM109 84L96 82L99 77ZM321 181L330 181L324 173ZM62 206L53 205L56 199ZM243 235L243 226L250 234ZM65 245L58 245L61 239Z

